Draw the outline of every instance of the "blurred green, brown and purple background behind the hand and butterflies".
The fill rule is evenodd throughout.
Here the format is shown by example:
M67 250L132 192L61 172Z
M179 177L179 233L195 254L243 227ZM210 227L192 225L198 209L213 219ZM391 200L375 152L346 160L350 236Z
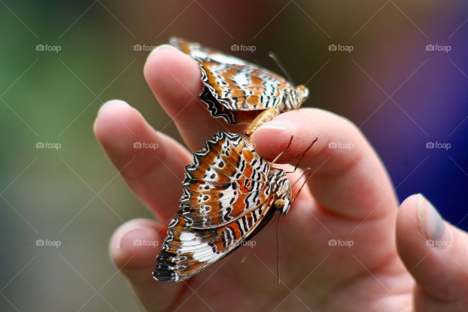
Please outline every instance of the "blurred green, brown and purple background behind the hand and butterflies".
M139 309L107 244L152 216L92 126L120 98L180 139L142 74L173 35L279 72L274 51L309 87L306 106L361 128L400 200L421 192L467 229L467 20L463 0L0 0L0 311Z

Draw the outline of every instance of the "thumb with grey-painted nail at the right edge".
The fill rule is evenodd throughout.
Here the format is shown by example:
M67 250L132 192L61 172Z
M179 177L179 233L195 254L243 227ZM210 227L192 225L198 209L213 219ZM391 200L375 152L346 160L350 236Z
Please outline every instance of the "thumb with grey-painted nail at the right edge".
M398 254L414 277L414 311L468 311L468 234L442 219L421 194L400 206Z

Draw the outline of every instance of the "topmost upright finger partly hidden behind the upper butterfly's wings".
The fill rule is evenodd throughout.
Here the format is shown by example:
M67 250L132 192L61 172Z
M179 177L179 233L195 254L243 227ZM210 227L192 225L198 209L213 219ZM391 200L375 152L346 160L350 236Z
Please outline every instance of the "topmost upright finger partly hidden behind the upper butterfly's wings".
M151 53L144 75L157 101L175 122L187 146L195 151L219 130L243 130L213 118L200 100L203 90L201 69L191 56L163 45Z

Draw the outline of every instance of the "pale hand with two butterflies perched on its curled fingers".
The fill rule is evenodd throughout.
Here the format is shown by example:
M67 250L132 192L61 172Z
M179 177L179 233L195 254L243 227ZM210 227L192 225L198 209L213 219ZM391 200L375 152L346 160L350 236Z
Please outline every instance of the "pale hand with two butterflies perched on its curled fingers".
M294 163L318 138L299 166L311 168L313 175L280 219L280 286L275 224L255 237L254 248L239 248L190 279L189 286L154 280L156 255L179 207L184 166L192 162L192 152L217 131L242 133L245 126L227 126L209 115L197 98L200 69L176 49L154 51L144 75L188 148L119 100L99 111L94 130L129 187L160 220L128 221L110 242L113 261L146 311L165 311L173 302L177 311L468 310L467 233L438 219L422 195L411 195L398 209L384 165L356 126L309 108L274 117L251 137L256 151L271 161L292 136L279 163ZM157 143L158 148L135 149L136 141ZM332 149L330 142L353 147ZM300 174L288 176L295 181ZM136 239L159 244L136 246ZM348 246L330 246L333 239ZM428 244L428 239L443 246ZM185 294L176 297L184 287L189 287Z

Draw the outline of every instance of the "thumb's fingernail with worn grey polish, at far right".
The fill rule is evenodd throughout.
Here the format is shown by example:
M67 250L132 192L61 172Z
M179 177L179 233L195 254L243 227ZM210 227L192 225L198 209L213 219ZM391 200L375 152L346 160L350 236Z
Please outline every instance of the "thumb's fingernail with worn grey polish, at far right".
M419 233L426 238L426 245L447 248L450 245L450 232L444 220L429 200L418 194Z

